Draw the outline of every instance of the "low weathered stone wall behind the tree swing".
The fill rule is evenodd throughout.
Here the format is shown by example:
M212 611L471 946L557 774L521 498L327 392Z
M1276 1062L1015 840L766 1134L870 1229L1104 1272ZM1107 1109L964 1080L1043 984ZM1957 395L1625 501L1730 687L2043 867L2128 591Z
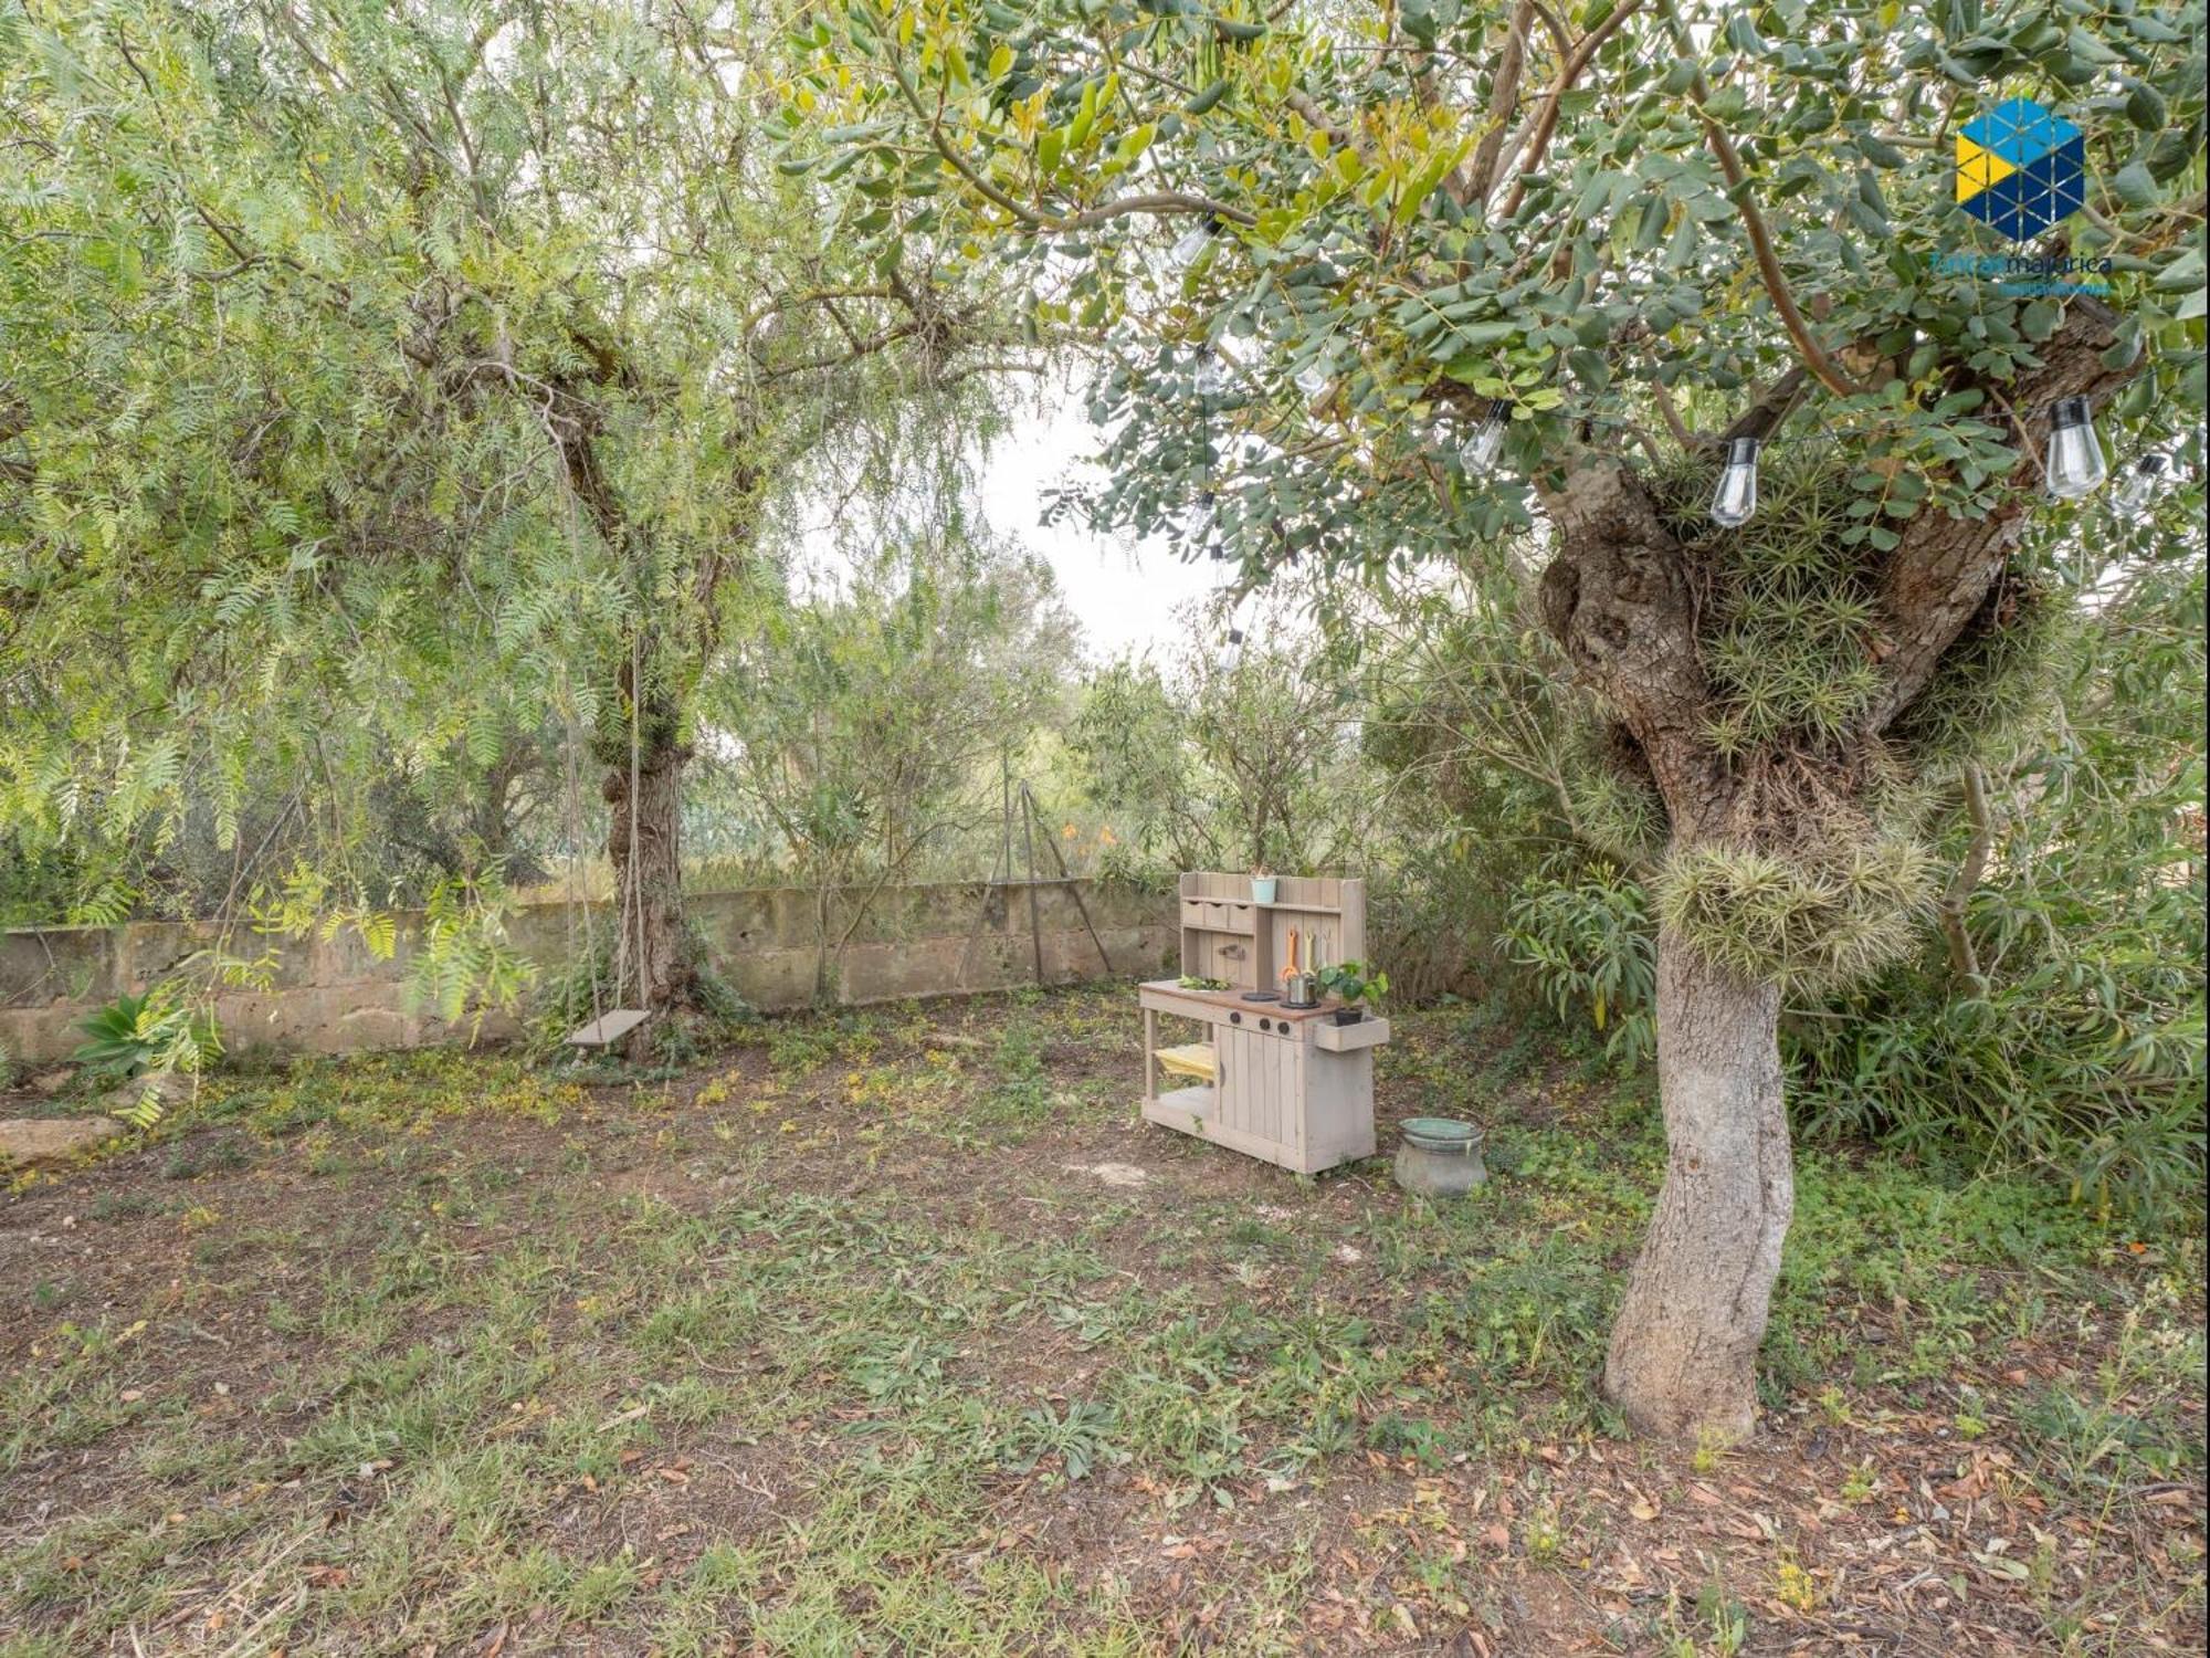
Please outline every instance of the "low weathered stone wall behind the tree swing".
M1083 882L1083 902L1112 957L1098 959L1074 893L1036 889L1043 973L1052 984L1156 973L1176 948L1174 898ZM853 926L862 893L838 895L829 935L851 937L824 975L829 1004L899 1001L1032 984L1034 944L1028 891L986 882L893 886L875 895ZM692 893L692 924L738 995L758 1008L802 1008L815 1001L820 922L815 895L796 886L736 893ZM225 990L217 1017L230 1048L272 1046L296 1052L413 1048L455 1032L409 1006L407 962L420 915L398 917L398 948L376 959L351 935L316 940L232 937L232 955L272 948L274 986ZM594 911L599 935L608 911ZM84 1041L77 1021L117 995L144 990L217 944L212 922L133 922L128 926L53 926L0 933L0 1050L15 1059L66 1059ZM581 913L566 904L526 904L508 926L511 942L555 973L581 948ZM488 1035L511 1019L484 1021Z

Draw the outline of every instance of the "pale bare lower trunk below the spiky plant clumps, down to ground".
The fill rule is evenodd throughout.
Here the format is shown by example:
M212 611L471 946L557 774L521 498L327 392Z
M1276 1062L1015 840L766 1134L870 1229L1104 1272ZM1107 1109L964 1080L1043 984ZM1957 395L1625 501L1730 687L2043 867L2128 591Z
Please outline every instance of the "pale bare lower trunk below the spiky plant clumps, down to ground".
M1795 1211L1777 984L1658 937L1666 1176L1611 1326L1604 1395L1640 1433L1741 1439Z

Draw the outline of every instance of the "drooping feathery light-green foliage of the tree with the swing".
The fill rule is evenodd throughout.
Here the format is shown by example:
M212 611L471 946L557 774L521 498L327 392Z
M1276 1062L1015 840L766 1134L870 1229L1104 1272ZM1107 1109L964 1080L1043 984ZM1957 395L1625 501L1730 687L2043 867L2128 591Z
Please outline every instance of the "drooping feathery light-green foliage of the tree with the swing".
M687 741L802 460L981 332L807 234L760 53L681 7L0 7L0 789L108 849L80 913L194 789L225 849L296 791L343 873L393 772Z

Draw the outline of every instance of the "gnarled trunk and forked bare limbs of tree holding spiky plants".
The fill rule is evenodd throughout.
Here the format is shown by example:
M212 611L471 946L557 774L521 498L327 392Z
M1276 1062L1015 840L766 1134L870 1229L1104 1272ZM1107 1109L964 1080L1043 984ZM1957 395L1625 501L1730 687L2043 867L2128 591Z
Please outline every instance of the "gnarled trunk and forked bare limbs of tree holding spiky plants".
M1854 730L1790 758L1856 787L1852 745L1885 741L1927 690L1945 652L1989 601L2038 497L2035 460L2058 398L2100 396L2135 371L2113 367L2115 316L2071 301L2040 365L2000 387L2016 411L2013 489L1982 515L1923 511L1870 570L1883 685ZM1792 400L1783 376L1728 436L1764 436ZM1971 378L1956 371L1956 385ZM1618 455L1578 451L1543 482L1558 537L1538 601L1576 681L1596 690L1640 774L1658 789L1675 851L1761 847L1748 772L1708 741L1722 712L1704 676L1697 568ZM1786 836L1779 838L1786 847ZM1658 1074L1669 1163L1649 1240L1611 1333L1604 1391L1638 1428L1741 1435L1755 1421L1757 1346L1795 1207L1775 1026L1775 982L1744 982L1682 940L1658 944Z

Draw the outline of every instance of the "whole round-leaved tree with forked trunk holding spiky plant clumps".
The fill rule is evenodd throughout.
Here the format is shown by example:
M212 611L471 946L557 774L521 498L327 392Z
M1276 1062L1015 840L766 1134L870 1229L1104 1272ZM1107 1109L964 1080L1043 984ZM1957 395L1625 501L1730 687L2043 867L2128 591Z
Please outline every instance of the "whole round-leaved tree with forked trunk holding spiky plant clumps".
M2201 18L842 0L807 27L791 126L833 124L884 234L1025 270L1034 327L1098 351L1098 524L1209 522L1249 581L1532 584L1589 725L1576 820L1655 869L1662 917L1671 1154L1604 1384L1646 1430L1748 1430L1792 1214L1781 993L1914 937L1929 798L2033 707L2051 548L2122 533L2044 489L2071 491L2060 407L2130 464L2203 402ZM2009 99L2071 122L2084 172L2029 203L2062 223L2018 279L1956 206L1958 139ZM1713 522L1753 453L1761 502Z

